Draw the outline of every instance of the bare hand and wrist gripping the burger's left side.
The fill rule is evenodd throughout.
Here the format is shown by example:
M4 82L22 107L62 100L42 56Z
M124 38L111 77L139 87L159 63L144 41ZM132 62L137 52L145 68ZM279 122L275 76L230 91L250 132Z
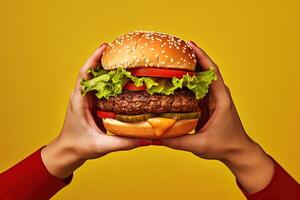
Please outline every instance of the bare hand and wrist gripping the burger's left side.
M42 149L42 159L46 168L58 178L68 177L87 159L151 144L150 140L106 135L99 129L93 118L94 95L82 96L80 93L81 80L90 78L87 74L88 68L96 68L101 64L101 57L106 47L106 44L101 45L80 69L62 131L56 139Z

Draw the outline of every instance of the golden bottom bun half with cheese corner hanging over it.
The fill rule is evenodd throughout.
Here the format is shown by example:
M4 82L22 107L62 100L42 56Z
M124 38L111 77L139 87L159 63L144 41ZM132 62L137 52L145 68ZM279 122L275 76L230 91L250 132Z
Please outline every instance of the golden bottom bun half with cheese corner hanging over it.
M193 131L198 119L173 120L155 117L147 121L126 123L105 118L102 121L106 130L115 135L135 138L170 138Z

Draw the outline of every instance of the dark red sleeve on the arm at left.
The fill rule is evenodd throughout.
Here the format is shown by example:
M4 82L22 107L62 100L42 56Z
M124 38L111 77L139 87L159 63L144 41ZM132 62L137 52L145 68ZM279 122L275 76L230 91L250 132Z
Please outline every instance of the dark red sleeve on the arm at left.
M0 174L1 200L46 200L69 184L72 176L62 181L46 169L41 149Z

